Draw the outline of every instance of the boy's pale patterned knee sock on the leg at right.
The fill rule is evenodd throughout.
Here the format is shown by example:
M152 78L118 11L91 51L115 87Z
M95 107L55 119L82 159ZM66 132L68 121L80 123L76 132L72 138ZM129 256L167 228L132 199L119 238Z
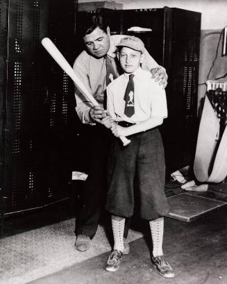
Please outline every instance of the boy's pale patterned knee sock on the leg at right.
M162 256L162 241L164 233L164 217L149 221L153 242L153 257Z

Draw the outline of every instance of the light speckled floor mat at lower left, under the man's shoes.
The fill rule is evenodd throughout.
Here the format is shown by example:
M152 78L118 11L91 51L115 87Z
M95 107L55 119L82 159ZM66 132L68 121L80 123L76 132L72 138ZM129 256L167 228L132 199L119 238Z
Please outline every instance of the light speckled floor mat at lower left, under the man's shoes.
M140 237L130 230L128 242ZM74 219L1 239L0 283L25 284L111 249L102 226L88 251L76 251L74 242Z

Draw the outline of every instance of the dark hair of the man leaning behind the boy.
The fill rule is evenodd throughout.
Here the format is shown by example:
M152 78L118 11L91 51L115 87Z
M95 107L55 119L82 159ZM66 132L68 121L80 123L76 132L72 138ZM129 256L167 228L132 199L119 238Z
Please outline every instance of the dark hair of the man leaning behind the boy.
M101 30L106 33L109 22L102 14L100 10L97 10L94 14L88 12L83 14L83 18L81 17L77 22L77 31L80 36L84 37L85 35L89 35L97 27L101 28Z

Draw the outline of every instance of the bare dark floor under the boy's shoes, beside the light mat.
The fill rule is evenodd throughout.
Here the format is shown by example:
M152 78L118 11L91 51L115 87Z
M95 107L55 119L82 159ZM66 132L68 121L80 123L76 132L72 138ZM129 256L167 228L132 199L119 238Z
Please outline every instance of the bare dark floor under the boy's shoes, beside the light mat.
M175 278L162 278L151 267L150 244L149 231L146 231L145 237L131 243L131 253L124 256L117 272L105 271L109 253L103 253L29 284L227 283L226 207L190 223L165 218L163 248Z

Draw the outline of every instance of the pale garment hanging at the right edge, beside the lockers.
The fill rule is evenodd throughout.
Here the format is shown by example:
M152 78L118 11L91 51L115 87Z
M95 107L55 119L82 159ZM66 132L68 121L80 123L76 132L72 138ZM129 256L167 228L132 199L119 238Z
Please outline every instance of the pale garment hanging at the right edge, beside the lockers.
M220 85L220 82L208 81L207 85L208 90L216 90L216 87L227 90L227 82ZM200 182L220 183L227 176L227 128L220 131L215 107L206 94L194 160L194 174Z

